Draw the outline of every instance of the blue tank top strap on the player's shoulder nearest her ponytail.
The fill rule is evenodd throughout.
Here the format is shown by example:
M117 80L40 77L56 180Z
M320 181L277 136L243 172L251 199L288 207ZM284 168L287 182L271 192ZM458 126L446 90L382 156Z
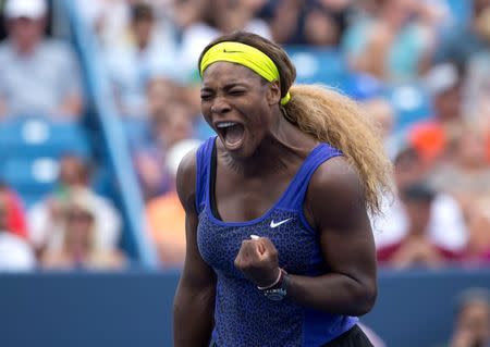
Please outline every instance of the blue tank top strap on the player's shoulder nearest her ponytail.
M339 156L343 156L342 151L328 144L320 144L315 147L294 176L279 207L303 211L305 195L313 174L327 160Z

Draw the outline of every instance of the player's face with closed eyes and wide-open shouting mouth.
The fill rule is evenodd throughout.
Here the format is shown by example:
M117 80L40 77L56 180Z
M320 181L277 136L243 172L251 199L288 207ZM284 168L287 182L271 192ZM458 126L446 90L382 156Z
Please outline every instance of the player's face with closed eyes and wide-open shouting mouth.
M270 129L272 107L281 98L277 84L265 83L252 70L229 62L206 69L200 97L206 122L237 158L254 154Z

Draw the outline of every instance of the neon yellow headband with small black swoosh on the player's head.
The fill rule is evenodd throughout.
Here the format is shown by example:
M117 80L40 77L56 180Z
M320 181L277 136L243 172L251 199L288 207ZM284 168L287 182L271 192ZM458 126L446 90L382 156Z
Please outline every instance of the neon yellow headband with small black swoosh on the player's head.
M204 54L200 61L200 76L209 65L218 61L237 63L253 70L268 82L280 80L278 66L264 52L255 47L241 42L220 42L212 46ZM286 104L291 99L290 92L281 99L281 104Z

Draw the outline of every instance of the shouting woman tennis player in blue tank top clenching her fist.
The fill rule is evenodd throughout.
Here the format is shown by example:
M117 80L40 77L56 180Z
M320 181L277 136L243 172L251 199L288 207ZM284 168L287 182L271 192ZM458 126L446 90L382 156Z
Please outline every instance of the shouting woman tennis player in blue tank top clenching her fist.
M376 299L368 219L390 163L357 107L291 87L277 45L224 35L199 59L218 136L184 158L186 259L175 346L371 346L355 317Z

